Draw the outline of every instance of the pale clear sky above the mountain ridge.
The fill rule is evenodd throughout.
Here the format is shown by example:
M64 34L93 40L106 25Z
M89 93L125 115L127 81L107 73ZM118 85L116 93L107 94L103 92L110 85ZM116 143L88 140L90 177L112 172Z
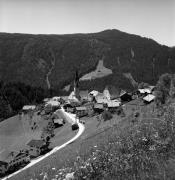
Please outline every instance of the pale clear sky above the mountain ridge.
M0 0L0 32L118 29L175 46L175 0Z

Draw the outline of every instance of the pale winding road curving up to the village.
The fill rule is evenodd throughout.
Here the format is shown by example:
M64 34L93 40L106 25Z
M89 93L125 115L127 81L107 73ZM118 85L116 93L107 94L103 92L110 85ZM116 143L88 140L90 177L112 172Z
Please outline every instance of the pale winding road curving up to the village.
M61 111L62 114L66 117L66 119L68 120L68 122L70 122L70 120L72 120L72 122L76 122L76 121L77 121L76 118L75 118L75 114L67 113L67 112L64 111L63 108L61 108L60 111ZM61 146L56 146L55 148L53 148L53 149L52 149L50 152L48 152L47 154L45 154L45 155L43 155L43 156L41 156L41 157L38 157L38 158L36 158L36 159L31 160L31 162L30 162L27 166L25 166L24 168L22 168L22 169L20 169L20 170L18 170L18 171L16 171L16 172L14 172L14 173L12 173L12 174L4 177L2 180L7 180L8 178L11 178L11 177L15 176L16 174L18 174L18 173L20 173L20 172L28 169L29 167L34 166L35 164L37 164L38 162L42 161L42 160L45 159L46 157L50 156L51 154L54 154L54 153L57 152L58 150L64 148L64 147L67 146L68 144L74 142L76 139L78 139L78 138L81 136L81 134L84 132L84 129L85 129L84 125L81 124L79 121L77 121L77 124L78 124L78 126L79 126L79 130L78 130L78 133L77 133L72 139L70 139L70 140L67 141L66 143L62 144Z

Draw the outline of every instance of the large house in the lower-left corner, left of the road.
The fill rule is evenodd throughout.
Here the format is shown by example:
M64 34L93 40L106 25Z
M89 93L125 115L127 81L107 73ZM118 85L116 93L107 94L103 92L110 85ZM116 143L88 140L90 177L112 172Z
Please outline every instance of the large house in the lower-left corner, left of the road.
M3 155L3 158L0 159L0 174L19 168L20 165L28 162L30 162L30 157L27 151L7 151Z

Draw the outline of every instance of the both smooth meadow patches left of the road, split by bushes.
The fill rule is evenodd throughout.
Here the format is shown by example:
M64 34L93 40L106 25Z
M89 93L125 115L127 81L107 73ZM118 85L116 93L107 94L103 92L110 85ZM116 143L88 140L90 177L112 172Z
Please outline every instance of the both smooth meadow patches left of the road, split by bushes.
M27 148L31 139L40 139L42 129L47 125L45 120L36 113L16 115L0 123L0 159L8 152ZM33 127L33 129L31 128ZM54 130L55 136L51 140L51 147L63 144L71 139L75 133L71 131L71 124Z

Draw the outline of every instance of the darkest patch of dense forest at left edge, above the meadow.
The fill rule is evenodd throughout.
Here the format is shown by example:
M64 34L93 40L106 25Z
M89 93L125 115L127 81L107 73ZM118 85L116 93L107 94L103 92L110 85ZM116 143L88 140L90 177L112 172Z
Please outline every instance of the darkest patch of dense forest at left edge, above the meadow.
M31 87L24 83L0 82L0 121L18 113L26 104L38 104L52 91L41 87Z

